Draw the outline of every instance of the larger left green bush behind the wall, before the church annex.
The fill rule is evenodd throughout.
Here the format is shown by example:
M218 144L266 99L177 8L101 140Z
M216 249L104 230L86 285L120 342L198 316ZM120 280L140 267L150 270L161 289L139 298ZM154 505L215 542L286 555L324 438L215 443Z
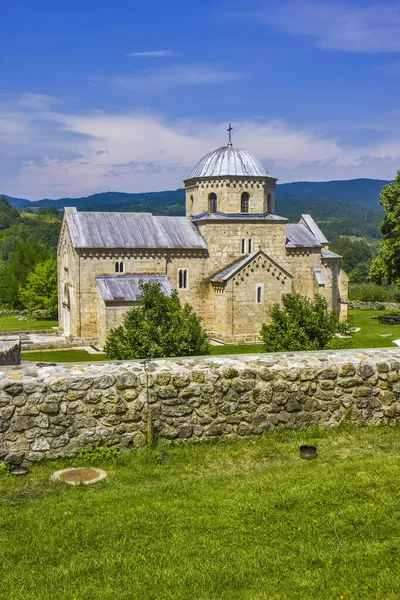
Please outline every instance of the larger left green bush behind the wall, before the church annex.
M120 327L112 329L105 344L108 358L129 360L163 356L209 354L210 345L201 319L178 293L163 294L159 283L140 282L140 306L132 308Z

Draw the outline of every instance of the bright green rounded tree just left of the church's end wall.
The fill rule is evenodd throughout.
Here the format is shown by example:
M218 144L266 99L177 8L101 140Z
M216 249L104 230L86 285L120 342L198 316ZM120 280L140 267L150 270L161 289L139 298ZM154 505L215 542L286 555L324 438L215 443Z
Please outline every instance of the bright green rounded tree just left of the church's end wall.
M37 263L19 289L20 302L30 311L46 310L57 315L57 261L50 258Z

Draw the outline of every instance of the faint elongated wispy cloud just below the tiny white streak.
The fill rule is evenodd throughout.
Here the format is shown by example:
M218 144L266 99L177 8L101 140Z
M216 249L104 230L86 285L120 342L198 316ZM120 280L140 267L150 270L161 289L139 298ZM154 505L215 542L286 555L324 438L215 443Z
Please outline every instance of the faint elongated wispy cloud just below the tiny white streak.
M244 79L232 71L208 63L171 65L165 69L150 69L135 75L115 76L114 83L130 90L160 90L177 85L219 85Z

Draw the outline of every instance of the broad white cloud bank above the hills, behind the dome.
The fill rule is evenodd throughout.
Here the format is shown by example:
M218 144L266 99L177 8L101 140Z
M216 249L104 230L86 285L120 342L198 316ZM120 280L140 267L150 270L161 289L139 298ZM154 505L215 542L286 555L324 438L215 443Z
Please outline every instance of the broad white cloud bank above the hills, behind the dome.
M8 137L0 192L31 199L175 189L204 154L227 142L227 123L139 112L35 113L15 99L0 107L2 119ZM233 142L280 181L391 179L400 167L400 136L387 136L345 144L282 120L243 120L234 123Z

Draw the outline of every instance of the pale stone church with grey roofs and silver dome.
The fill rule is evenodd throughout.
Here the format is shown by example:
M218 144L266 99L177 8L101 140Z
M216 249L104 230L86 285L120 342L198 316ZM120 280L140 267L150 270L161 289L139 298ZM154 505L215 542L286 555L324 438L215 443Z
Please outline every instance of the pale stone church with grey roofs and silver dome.
M276 179L249 152L228 145L186 179L186 216L78 212L66 208L58 246L60 326L100 346L140 302L139 282L178 290L213 339L258 341L282 294L321 294L347 314L340 256L308 214L275 212Z

